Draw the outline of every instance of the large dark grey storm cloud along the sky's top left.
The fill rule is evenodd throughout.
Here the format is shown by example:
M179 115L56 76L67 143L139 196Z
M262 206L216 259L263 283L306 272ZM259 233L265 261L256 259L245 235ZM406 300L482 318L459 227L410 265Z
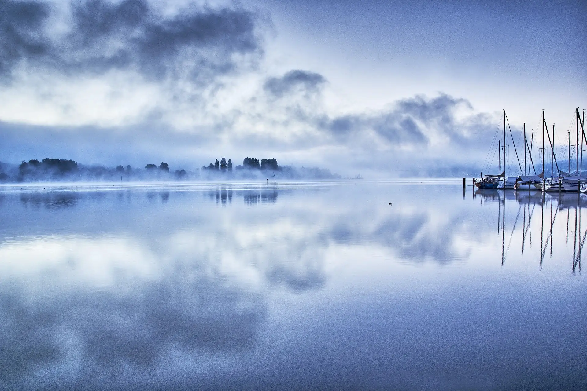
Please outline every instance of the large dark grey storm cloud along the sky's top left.
M132 70L151 80L207 80L260 55L257 14L194 5L164 18L144 0L72 2L70 32L51 35L52 4L0 2L0 76L18 64L66 74ZM53 10L54 11L54 10Z

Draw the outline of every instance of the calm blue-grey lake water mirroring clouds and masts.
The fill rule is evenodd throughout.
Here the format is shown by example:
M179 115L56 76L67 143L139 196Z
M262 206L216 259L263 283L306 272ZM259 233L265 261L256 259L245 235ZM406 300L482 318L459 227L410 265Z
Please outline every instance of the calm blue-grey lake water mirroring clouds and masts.
M4 186L0 389L587 388L585 206L454 181Z

